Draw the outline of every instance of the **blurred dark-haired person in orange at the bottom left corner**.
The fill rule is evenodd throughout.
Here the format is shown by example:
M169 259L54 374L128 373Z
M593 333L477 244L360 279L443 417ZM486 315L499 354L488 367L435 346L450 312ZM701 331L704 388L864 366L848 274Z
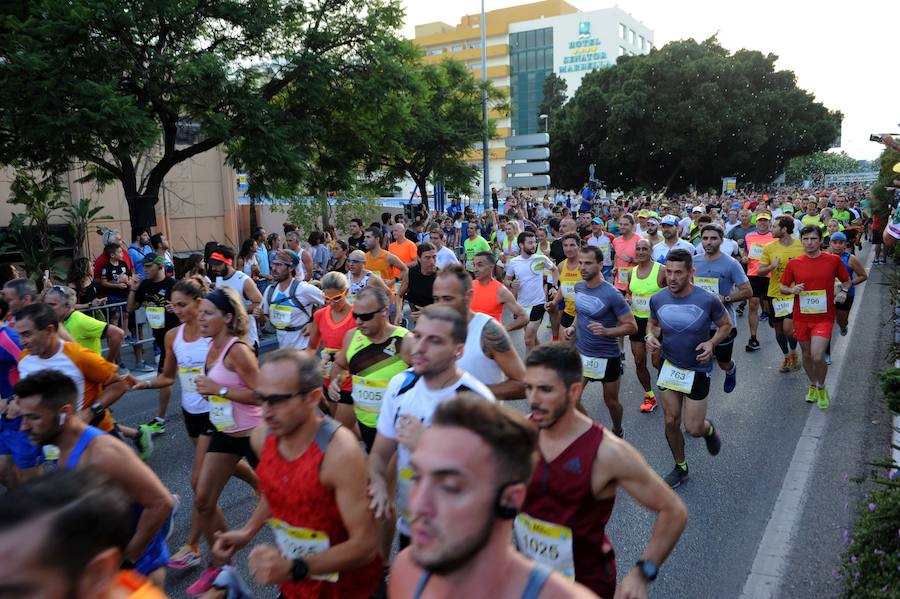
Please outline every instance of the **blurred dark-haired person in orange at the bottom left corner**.
M90 526L84 526L90 522ZM10 597L165 599L119 568L134 526L122 489L88 469L48 473L0 496L0 580Z

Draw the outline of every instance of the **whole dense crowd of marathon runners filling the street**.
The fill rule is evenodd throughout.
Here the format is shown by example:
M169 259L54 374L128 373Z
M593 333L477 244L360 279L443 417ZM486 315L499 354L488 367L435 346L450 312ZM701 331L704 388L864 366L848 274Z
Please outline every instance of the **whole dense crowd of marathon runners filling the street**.
M257 229L237 252L208 244L178 278L165 238L146 231L130 246L104 233L93 268L42 293L11 269L0 589L152 598L167 569L194 569L189 595L242 597L233 564L247 559L286 598L646 597L687 521L673 491L696 451L684 433L712 455L727 442L730 423L707 407L714 374L721 393L746 376L738 328L745 353L775 343L780 373L802 367L796 401L828 409L830 346L866 280L855 254L870 241L881 260L895 220L873 219L855 188L613 198L586 186L481 214L454 201L354 219L345 239L313 231L305 247L295 227ZM104 302L121 309L82 311ZM129 372L121 346L148 331ZM278 349L260 355L265 331ZM640 405L620 401L623 377ZM587 416L590 383L611 428ZM116 422L116 402L146 389L157 416ZM145 463L173 396L194 447L189 498ZM501 403L521 399L527 417ZM660 404L662 476L623 428L625 410ZM258 499L229 528L219 499L232 477ZM621 570L605 533L620 487L656 519ZM179 504L191 526L172 553ZM275 545L254 540L265 526Z

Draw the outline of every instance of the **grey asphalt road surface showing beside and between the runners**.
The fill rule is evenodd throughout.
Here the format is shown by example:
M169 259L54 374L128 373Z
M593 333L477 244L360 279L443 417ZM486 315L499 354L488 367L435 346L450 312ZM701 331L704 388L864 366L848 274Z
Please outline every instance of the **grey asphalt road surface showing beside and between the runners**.
M866 462L884 457L888 451L889 419L880 402L873 401L872 377L873 371L884 368L890 341L884 326L889 304L882 279L879 269L873 268L864 301L853 307L863 310L862 317L848 337L837 340L852 347L851 363L838 388L831 390L826 438L808 489L809 501L795 531L789 574L780 593L783 597L830 597L839 592L832 571L844 547L843 530L853 519L852 507L864 492L848 479L860 475ZM761 323L763 349L750 354L744 351L747 318L738 321L737 389L725 394L723 374L717 369L709 402L709 417L723 440L722 452L712 457L702 440L688 438L691 478L677 492L688 505L689 523L651 588L653 597L722 598L741 594L800 432L809 411L817 409L803 401L807 381L802 371L778 372L781 353L769 326ZM513 335L519 351L523 351L521 333ZM542 329L541 336L549 338L549 329ZM665 475L673 461L663 435L662 409L651 414L638 412L643 391L634 375L630 353L625 369L620 400L625 406L627 440L643 453L651 467ZM168 430L157 437L149 464L187 506L192 447L184 433L177 397L176 392L169 409ZM525 409L524 402L512 404ZM584 404L593 418L609 425L599 385L588 387ZM116 406L117 418L131 425L147 422L155 411L156 395L150 391L129 394ZM244 483L232 480L220 504L229 524L239 526L252 512L255 497ZM173 551L187 536L189 516L189 510L183 509L176 518L170 539ZM652 514L620 494L608 527L620 578L638 559L652 525ZM270 537L263 534L259 539ZM237 556L244 574L247 554L245 549ZM184 597L185 588L200 570L170 571L166 585L170 596ZM274 589L256 587L255 591L258 597L277 596Z

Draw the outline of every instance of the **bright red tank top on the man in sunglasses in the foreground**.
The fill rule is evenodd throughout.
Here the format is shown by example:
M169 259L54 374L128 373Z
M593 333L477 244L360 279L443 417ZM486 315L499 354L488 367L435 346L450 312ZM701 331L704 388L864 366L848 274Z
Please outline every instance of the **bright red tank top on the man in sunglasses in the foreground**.
M319 481L322 459L339 426L326 417L309 449L292 461L281 457L276 437L266 437L256 469L259 489L269 502L272 517L290 526L327 534L331 547L349 538L334 490ZM382 575L381 559L375 558L365 566L339 573L337 582L307 578L282 584L281 592L286 599L367 599Z

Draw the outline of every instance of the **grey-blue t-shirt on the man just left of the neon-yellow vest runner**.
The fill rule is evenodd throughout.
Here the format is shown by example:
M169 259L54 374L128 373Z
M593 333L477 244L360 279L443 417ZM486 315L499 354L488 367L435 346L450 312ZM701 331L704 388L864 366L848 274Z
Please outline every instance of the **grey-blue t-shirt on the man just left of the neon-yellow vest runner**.
M601 337L588 329L596 321L607 328L617 325L619 317L631 312L619 291L603 281L590 288L581 281L575 284L575 348L590 358L618 358L618 337Z

